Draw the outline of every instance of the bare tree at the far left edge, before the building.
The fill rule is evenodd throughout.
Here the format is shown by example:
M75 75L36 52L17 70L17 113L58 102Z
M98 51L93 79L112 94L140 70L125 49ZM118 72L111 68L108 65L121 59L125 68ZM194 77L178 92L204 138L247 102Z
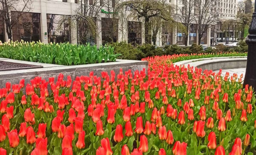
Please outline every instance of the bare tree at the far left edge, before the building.
M0 20L4 22L10 40L12 40L12 27L19 23L23 14L31 10L31 0L0 0ZM11 16L11 12L15 12L15 16Z

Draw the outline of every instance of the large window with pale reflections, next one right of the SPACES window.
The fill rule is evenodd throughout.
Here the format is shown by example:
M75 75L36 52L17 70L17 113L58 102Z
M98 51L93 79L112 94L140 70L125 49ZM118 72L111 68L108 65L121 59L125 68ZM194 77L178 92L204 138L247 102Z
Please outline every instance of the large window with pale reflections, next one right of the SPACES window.
M63 15L46 14L48 43L71 42L71 28L68 19Z

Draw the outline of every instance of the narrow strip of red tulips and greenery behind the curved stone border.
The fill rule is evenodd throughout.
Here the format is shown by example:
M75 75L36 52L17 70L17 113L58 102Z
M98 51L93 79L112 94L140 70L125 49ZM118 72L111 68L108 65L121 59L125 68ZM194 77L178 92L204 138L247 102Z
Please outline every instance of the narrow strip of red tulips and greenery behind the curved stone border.
M241 57L247 56L247 52L238 53L238 52L218 52L218 53L194 53L194 54L173 54L173 55L164 55L164 56L155 56L143 58L142 61L157 61L158 63L175 63L183 60L191 59L200 59L200 58L213 58L213 57Z

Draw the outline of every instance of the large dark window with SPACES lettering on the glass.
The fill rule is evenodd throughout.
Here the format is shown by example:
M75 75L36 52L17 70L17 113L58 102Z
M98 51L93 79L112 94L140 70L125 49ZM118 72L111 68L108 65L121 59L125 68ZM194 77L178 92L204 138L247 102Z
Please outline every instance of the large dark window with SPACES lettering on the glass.
M20 15L18 12L11 12L13 18ZM26 42L41 40L40 13L23 13L19 21L12 27L12 40Z

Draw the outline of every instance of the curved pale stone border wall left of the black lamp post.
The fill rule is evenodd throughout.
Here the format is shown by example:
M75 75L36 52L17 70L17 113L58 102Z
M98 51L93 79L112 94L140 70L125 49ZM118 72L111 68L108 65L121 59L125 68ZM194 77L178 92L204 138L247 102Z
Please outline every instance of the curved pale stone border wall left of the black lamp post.
M244 57L215 57L215 58L201 58L184 60L174 63L174 65L185 65L202 68L207 70L220 70L220 69L232 69L232 68L244 68L246 67L247 56Z

